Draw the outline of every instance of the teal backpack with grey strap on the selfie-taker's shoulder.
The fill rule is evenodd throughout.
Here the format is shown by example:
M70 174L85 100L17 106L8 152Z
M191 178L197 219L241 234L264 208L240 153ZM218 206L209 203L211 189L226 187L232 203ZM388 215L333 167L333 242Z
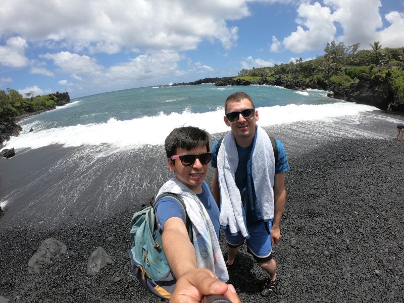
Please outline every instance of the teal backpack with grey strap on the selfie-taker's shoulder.
M192 229L183 201L173 193L162 197L175 198L183 211L184 223L192 241ZM139 282L151 293L163 299L170 299L174 291L176 279L168 265L164 254L161 231L157 225L153 198L150 206L135 213L131 220L130 238L132 248L129 250L132 271Z

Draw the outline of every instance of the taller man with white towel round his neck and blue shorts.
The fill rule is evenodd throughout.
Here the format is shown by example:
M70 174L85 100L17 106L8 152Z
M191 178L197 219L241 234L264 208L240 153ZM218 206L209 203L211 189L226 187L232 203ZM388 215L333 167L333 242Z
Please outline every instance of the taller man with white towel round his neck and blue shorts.
M277 282L272 245L281 236L285 206L285 173L289 170L285 149L276 140L278 157L268 134L256 125L258 111L244 92L228 96L224 122L231 128L212 148L215 173L212 192L220 207L220 225L226 226L228 268L246 239L248 252L269 277L261 295L268 296Z

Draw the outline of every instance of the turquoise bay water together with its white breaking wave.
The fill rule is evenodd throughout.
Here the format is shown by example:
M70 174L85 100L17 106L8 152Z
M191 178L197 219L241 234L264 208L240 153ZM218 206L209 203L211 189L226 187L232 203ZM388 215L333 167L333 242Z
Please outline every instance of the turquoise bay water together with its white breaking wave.
M7 145L16 149L52 144L127 149L162 144L173 128L184 125L200 127L211 134L225 132L224 101L240 90L254 100L259 125L263 127L375 110L329 98L322 90L213 84L143 87L76 98L66 106L31 116L21 121L21 135ZM29 132L31 128L33 132Z

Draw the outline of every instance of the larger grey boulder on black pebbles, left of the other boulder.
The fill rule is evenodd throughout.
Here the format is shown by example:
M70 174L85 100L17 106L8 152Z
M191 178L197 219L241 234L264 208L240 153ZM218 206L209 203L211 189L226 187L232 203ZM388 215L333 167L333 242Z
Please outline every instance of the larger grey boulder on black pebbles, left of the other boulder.
M42 241L35 254L28 261L28 273L36 274L43 264L51 263L53 259L66 257L67 246L56 238Z

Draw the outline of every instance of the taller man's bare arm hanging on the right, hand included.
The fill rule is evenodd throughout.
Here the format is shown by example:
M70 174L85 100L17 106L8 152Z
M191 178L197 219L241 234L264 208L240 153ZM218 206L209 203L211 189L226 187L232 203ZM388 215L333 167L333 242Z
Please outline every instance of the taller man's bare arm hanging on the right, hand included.
M280 222L285 207L285 173L275 174L274 179L274 221L272 223L271 242L278 243L281 237Z

